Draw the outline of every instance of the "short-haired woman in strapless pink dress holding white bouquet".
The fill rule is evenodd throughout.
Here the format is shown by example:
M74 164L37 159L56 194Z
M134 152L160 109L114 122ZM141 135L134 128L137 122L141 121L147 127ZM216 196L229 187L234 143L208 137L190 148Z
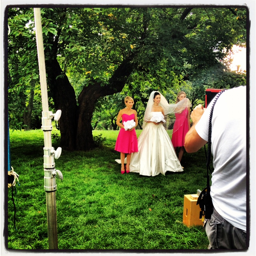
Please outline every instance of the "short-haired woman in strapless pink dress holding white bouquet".
M125 167L126 173L128 173L130 172L129 165L131 153L138 152L137 135L135 132L135 127L138 125L138 118L136 110L132 109L134 101L132 97L127 96L124 98L124 103L126 107L119 111L116 119L116 124L121 128L118 133L115 146L115 150L121 153L121 174L124 174L125 172L125 154L127 154ZM122 123L120 123L121 119Z

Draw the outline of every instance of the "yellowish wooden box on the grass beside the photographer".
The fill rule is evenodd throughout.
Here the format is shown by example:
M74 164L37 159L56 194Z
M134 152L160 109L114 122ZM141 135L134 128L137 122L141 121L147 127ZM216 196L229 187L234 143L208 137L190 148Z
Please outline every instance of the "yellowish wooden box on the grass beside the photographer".
M183 223L186 226L203 226L202 219L200 217L199 204L196 205L198 195L184 195L184 206L183 206Z

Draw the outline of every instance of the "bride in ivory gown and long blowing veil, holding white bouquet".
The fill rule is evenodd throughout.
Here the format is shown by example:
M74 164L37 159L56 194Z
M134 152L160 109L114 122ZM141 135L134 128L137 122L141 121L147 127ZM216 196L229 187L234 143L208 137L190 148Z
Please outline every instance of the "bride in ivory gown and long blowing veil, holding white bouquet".
M151 92L144 114L143 131L138 138L139 152L132 154L130 166L126 165L126 169L146 176L183 171L163 124L166 122L164 115L182 112L188 102L186 99L178 104L169 104L160 92Z

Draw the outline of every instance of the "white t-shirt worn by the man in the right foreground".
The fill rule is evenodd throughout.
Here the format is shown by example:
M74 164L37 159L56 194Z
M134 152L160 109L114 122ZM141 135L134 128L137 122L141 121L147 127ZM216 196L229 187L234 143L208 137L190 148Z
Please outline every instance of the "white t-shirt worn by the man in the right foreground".
M246 102L246 86L229 89L220 95L212 116L214 167L211 186L212 203L225 220L242 230L246 230L246 104L244 102ZM195 126L196 132L204 140L208 140L212 103L213 100Z

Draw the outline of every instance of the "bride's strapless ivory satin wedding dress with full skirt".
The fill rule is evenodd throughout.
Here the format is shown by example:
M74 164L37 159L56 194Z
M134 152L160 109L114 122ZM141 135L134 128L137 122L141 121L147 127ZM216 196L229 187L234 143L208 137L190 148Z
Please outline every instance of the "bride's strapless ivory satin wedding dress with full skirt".
M162 112L151 112L151 114L162 115ZM165 175L167 171L183 171L163 124L145 125L138 138L138 150L139 152L132 153L130 172L156 176L159 173Z

